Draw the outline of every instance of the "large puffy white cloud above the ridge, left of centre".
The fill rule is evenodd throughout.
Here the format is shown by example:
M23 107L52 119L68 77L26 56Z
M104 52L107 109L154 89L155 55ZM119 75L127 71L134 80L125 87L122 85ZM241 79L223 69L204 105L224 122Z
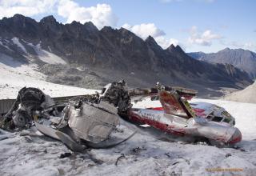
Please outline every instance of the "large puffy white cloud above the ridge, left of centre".
M116 26L118 18L114 15L111 6L97 4L97 6L79 6L71 0L61 0L58 3L58 15L66 18L66 22L93 22L101 29L103 26Z

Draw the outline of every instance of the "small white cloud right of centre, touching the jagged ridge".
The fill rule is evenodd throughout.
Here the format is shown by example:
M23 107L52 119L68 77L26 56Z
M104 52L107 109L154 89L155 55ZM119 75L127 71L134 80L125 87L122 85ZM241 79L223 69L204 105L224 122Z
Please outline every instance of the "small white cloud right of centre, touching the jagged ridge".
M134 26L124 24L122 27L132 31L134 34L137 34L142 39L146 39L150 35L155 39L156 42L158 42L158 45L161 46L163 49L166 49L168 46L170 46L170 44L174 44L174 46L177 46L179 43L177 39L167 39L165 37L166 33L158 29L158 27L155 26L154 23L142 23L140 25Z

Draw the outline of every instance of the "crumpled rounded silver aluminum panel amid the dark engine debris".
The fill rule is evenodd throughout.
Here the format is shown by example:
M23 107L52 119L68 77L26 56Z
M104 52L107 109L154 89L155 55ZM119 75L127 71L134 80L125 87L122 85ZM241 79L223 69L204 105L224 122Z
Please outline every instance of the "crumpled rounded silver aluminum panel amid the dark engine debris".
M93 106L83 103L79 109L70 106L68 116L68 123L74 134L90 142L106 140L119 124L117 108L103 101Z

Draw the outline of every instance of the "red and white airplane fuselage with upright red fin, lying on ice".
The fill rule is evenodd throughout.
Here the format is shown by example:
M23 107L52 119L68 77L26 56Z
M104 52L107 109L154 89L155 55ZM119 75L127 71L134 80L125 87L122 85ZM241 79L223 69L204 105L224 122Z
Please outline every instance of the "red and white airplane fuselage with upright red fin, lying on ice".
M166 134L202 137L223 145L233 145L242 140L240 130L234 127L234 118L222 107L206 102L188 104L175 96L161 91L158 97L162 107L132 108L129 120L147 124Z

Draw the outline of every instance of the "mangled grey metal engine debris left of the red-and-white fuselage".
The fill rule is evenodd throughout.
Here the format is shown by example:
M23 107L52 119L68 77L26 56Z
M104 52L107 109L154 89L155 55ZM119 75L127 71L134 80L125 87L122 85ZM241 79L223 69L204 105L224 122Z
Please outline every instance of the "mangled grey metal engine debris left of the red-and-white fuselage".
M70 99L61 105L36 88L22 88L10 111L3 117L5 130L22 130L33 124L42 134L62 141L71 150L109 148L125 142L136 132L115 142L108 142L119 124L119 111L130 107L126 82L114 82L102 94Z

